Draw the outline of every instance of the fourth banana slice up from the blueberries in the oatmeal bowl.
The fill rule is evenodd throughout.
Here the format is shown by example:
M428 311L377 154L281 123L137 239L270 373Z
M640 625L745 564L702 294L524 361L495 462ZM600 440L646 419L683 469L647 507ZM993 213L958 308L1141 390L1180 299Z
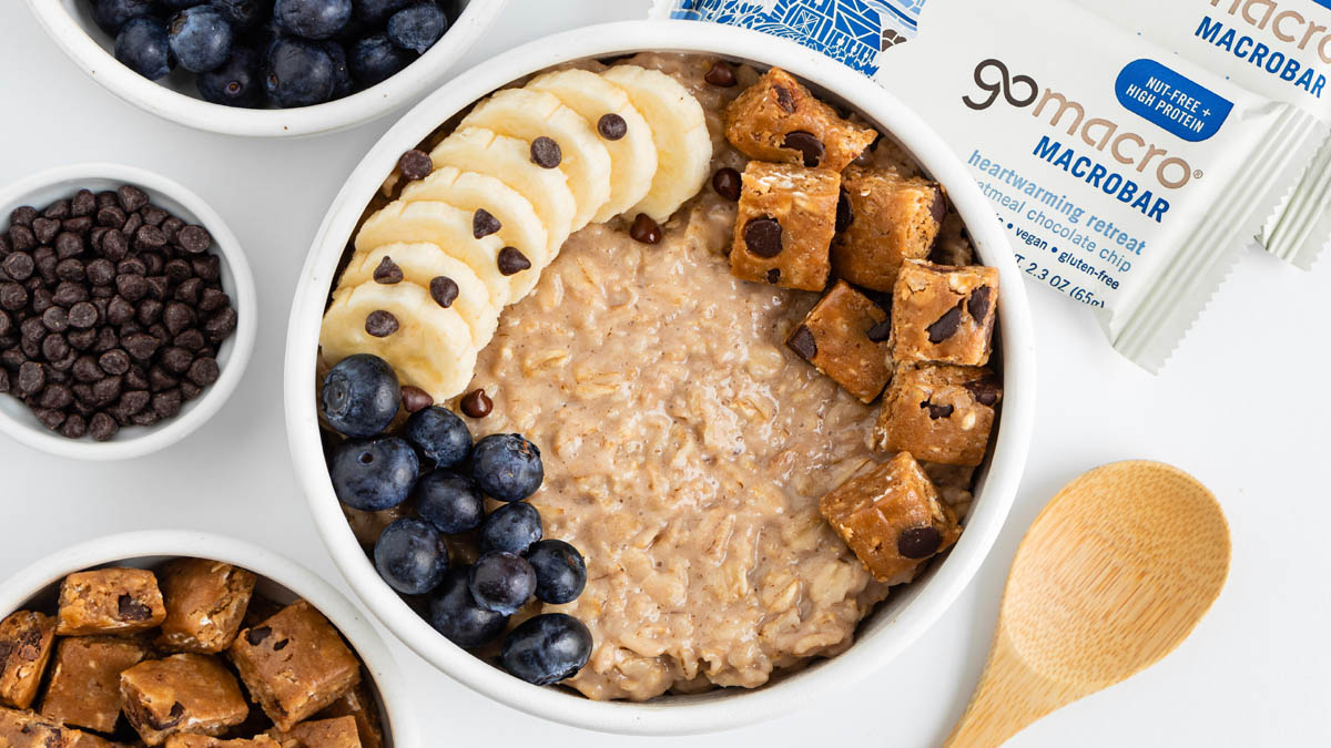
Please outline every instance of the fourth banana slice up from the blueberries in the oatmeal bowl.
M499 221L495 234L507 246L518 248L534 268L543 270L550 261L550 237L531 202L495 177L462 172L453 166L435 169L429 177L409 182L398 196L402 202L434 200L454 208L470 210L475 221L476 210L484 210ZM475 226L473 226L475 228Z

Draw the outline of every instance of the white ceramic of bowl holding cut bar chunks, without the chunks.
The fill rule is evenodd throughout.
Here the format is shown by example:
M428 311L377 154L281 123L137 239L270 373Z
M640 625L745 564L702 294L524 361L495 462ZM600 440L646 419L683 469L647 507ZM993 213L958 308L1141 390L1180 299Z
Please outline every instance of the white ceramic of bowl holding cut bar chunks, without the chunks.
M386 748L421 745L398 664L361 611L303 566L241 540L188 530L152 530L80 543L7 579L0 586L0 618L32 606L53 611L60 580L76 571L102 566L146 568L174 556L248 568L260 576L256 592L276 603L285 604L297 598L309 600L342 632L365 663L371 679L370 691L379 700Z

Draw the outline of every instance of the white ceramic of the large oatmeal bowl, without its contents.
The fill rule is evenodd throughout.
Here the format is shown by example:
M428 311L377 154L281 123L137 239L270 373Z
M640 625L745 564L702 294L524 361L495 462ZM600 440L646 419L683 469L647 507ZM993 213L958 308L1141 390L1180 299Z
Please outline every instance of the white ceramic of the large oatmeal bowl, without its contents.
M833 98L852 104L892 133L948 189L984 262L1001 273L1000 327L1004 411L993 458L981 472L966 531L950 554L914 584L898 590L860 627L853 647L755 689L667 696L646 704L598 703L555 688L538 688L455 647L385 584L357 543L329 482L315 414L319 318L338 258L361 213L398 156L441 122L491 91L534 71L580 57L642 49L716 53L760 65L779 64ZM286 349L286 422L297 474L319 534L366 607L422 657L461 683L516 709L583 728L668 735L732 728L828 697L880 672L910 646L970 580L1012 506L1026 462L1034 414L1034 353L1021 273L993 208L965 166L905 105L860 75L793 43L757 32L691 21L630 21L588 27L534 41L458 76L409 112L361 161L314 240L291 307Z

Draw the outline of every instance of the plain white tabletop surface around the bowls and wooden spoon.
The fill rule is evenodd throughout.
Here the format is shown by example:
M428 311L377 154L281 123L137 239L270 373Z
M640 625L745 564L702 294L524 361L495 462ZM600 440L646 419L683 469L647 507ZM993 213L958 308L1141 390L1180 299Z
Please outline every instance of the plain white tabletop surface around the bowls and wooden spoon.
M512 0L459 69L547 32L642 17L647 5ZM188 130L101 89L23 3L0 0L0 181L87 160L180 180L238 234L262 314L240 390L174 447L93 465L0 441L0 579L97 535L189 527L257 542L346 590L287 459L284 338L291 289L325 208L391 121L299 141ZM1158 377L1115 355L1091 319L1053 291L1033 289L1032 305L1040 403L1030 463L989 560L938 624L870 681L823 695L799 713L711 737L644 743L937 745L980 675L1026 526L1078 472L1150 458L1189 470L1219 496L1234 532L1229 584L1177 652L1046 717L1012 745L1331 745L1331 261L1303 273L1255 250L1246 256ZM624 743L491 703L385 638L413 684L427 745Z

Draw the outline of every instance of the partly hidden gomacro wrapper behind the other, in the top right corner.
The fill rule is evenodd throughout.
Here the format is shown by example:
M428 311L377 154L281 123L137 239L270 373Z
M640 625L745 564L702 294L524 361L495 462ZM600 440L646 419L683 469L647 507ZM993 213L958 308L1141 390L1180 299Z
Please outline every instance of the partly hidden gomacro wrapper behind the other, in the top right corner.
M1075 1L1250 91L1331 122L1331 0ZM1331 141L1324 141L1260 241L1307 269L1328 238Z

